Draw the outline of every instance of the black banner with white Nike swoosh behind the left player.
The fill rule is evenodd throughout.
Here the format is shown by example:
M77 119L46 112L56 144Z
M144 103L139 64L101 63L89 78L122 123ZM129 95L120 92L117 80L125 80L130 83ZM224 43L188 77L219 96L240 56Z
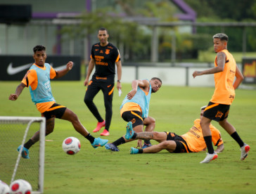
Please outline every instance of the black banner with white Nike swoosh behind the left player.
M67 75L55 80L80 80L80 56L47 56L49 63L56 71L63 70L69 61L74 63ZM0 56L0 80L21 81L27 70L34 63L32 56Z

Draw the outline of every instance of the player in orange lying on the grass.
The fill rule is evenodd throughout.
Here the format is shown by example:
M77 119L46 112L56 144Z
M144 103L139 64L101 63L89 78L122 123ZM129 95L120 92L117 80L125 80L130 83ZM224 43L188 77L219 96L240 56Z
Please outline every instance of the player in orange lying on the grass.
M206 106L201 108L200 118L203 117L203 112ZM210 124L210 129L212 131L212 143L217 146L215 150L216 153L222 152L224 150L223 141L221 134L218 129L216 129L212 124ZM172 132L142 132L136 133L132 129L132 123L127 124L127 134L126 139L136 140L136 139L153 139L158 141L158 145L152 145L148 148L136 149L131 148L131 154L137 153L158 153L161 150L167 150L170 153L197 153L205 150L206 145L203 139L202 128L200 127L200 119L194 121L193 127L189 131L181 136L174 134Z

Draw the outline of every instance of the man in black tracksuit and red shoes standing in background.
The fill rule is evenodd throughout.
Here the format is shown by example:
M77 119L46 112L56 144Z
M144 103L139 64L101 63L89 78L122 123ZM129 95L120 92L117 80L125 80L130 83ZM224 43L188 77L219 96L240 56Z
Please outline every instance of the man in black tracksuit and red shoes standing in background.
M100 42L94 44L91 48L91 60L87 70L87 77L84 80L84 86L88 86L84 96L84 103L86 103L91 113L98 120L94 132L101 130L101 127L105 127L101 136L109 135L112 119L113 91L115 87L115 64L117 65L117 90L121 89L120 80L122 77L120 53L113 44L108 42L108 37L108 31L105 28L98 30L98 39ZM94 70L94 66L95 72L89 82L89 77L92 70ZM100 90L103 91L104 96L105 120L101 117L94 104L94 97Z

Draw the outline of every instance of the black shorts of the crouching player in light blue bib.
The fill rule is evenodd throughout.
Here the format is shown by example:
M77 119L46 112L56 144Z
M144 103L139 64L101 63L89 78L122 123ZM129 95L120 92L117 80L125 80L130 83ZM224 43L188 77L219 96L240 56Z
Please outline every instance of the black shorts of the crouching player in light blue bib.
M126 122L132 122L132 127L136 127L138 125L143 125L143 118L141 112L131 110L125 111L122 113L122 119Z

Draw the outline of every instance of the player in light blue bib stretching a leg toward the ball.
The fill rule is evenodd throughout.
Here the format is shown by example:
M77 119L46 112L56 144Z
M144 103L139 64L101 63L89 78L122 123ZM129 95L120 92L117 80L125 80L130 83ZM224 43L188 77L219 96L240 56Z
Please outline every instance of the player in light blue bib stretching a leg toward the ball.
M53 98L50 79L56 79L66 75L72 69L72 61L68 62L64 70L56 71L49 63L45 63L46 48L44 46L34 46L33 51L34 64L30 67L30 70L27 71L23 81L17 86L15 93L9 96L9 100L16 101L23 89L30 87L32 101L37 106L37 110L41 112L41 117L46 118L46 136L53 132L55 118L58 118L71 122L75 130L87 138L94 148L104 146L105 143L108 143L106 139L91 136L87 129L79 122L77 115L65 106L57 104ZM37 141L39 141L39 131L37 131L24 146L20 145L18 152L23 148L22 157L30 158L29 149Z

